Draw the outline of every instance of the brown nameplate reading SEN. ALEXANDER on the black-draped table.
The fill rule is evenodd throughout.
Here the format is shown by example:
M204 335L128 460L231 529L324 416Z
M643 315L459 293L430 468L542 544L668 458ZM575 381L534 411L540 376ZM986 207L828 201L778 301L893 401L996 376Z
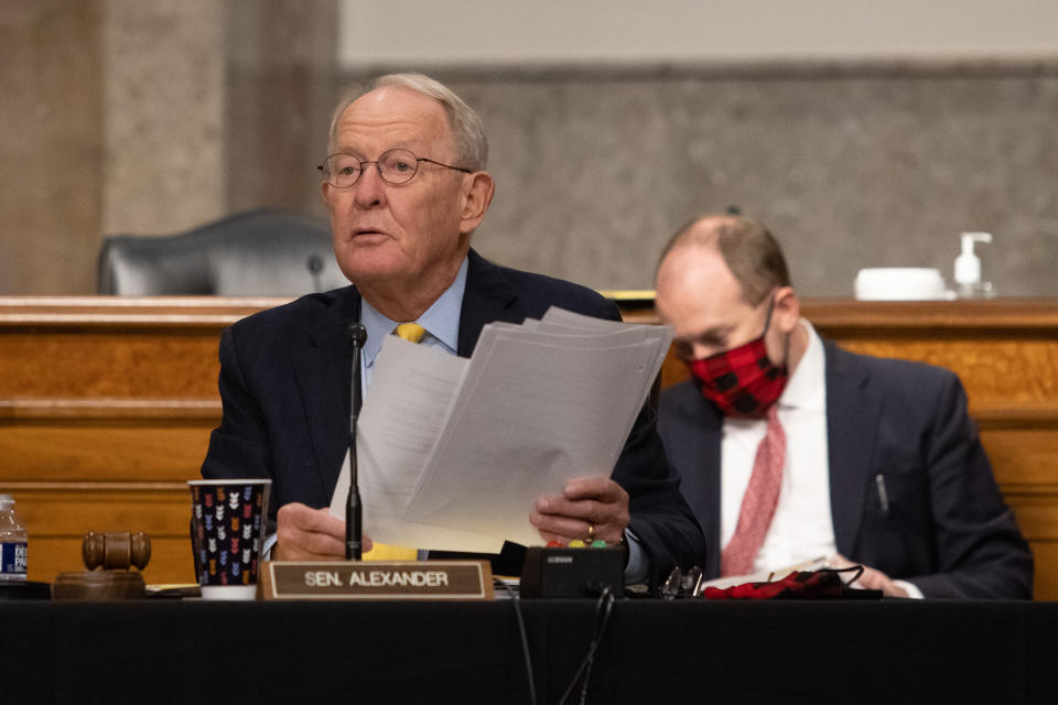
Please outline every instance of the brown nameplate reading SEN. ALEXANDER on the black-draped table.
M487 561L266 561L260 599L493 599Z

